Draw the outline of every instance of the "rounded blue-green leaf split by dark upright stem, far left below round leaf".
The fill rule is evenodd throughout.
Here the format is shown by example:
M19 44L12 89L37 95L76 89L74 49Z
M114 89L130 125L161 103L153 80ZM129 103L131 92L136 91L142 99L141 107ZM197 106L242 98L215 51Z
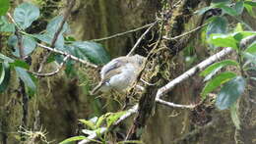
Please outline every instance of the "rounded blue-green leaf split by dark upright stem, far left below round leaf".
M16 35L12 35L9 37L8 40L9 45L13 46L15 51L13 52L13 55L16 57L21 57L20 56L20 48L18 47L18 39ZM23 48L24 48L24 55L28 56L32 53L34 48L36 47L36 42L33 40L32 37L23 35L22 37L22 43L23 43Z

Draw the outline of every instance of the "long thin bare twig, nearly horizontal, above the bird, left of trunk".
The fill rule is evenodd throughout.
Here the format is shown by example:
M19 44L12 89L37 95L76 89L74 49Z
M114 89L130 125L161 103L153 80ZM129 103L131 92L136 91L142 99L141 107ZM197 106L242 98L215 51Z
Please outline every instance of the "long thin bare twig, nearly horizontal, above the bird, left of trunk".
M122 36L122 35L125 35L125 34L128 34L128 33L132 33L132 32L135 32L135 31L147 28L147 27L149 27L149 26L151 26L153 24L155 24L155 23L146 24L146 25L143 25L143 26L135 28L135 29L131 29L131 30L128 30L128 31L125 31L125 32L121 32L121 33L116 33L116 34L113 34L113 35L110 35L110 36L107 36L107 37L103 37L103 38L92 39L90 41L98 42L98 41L103 41L103 40L111 39L111 38L114 38L114 37Z

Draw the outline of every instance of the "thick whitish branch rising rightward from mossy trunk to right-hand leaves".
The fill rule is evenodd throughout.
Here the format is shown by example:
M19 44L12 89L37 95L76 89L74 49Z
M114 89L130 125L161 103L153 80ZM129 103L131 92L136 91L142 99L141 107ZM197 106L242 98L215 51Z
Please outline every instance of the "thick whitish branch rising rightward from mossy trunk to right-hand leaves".
M222 50L221 52L211 56L210 58L208 58L207 60L201 62L200 64L198 64L197 66L193 67L189 71L184 72L180 76L178 76L175 79L171 80L170 82L168 82L166 85L162 86L158 90L156 101L159 102L159 103L163 103L162 100L160 100L160 97L162 95L164 95L165 93L169 92L175 85L177 85L178 83L180 83L180 82L184 81L185 79L191 77L196 72L202 71L203 69L205 69L209 65L213 64L214 62L219 61L221 58L223 58L227 54L231 53L231 51L232 51L232 48L230 48L230 47L224 48L224 50ZM169 102L164 102L164 105L173 106L173 104L169 103ZM173 107L175 107L175 106L173 106Z

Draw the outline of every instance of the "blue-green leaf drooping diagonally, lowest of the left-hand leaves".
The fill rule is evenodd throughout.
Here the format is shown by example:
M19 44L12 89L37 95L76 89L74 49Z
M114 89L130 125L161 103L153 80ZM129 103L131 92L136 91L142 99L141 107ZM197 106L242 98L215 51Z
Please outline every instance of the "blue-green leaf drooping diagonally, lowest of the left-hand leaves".
M20 67L15 67L15 71L18 74L18 76L24 81L25 85L30 90L32 90L32 92L34 92L36 86L35 86L35 84L32 80L31 74L29 74L26 69L23 69L23 68L20 68Z

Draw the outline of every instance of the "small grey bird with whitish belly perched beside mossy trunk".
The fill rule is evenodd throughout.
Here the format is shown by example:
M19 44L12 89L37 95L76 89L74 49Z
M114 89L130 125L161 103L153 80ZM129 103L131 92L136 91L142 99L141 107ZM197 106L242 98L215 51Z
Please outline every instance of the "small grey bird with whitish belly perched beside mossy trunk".
M91 94L97 94L99 91L124 91L136 80L145 60L141 55L121 56L111 60L102 67L101 80Z

